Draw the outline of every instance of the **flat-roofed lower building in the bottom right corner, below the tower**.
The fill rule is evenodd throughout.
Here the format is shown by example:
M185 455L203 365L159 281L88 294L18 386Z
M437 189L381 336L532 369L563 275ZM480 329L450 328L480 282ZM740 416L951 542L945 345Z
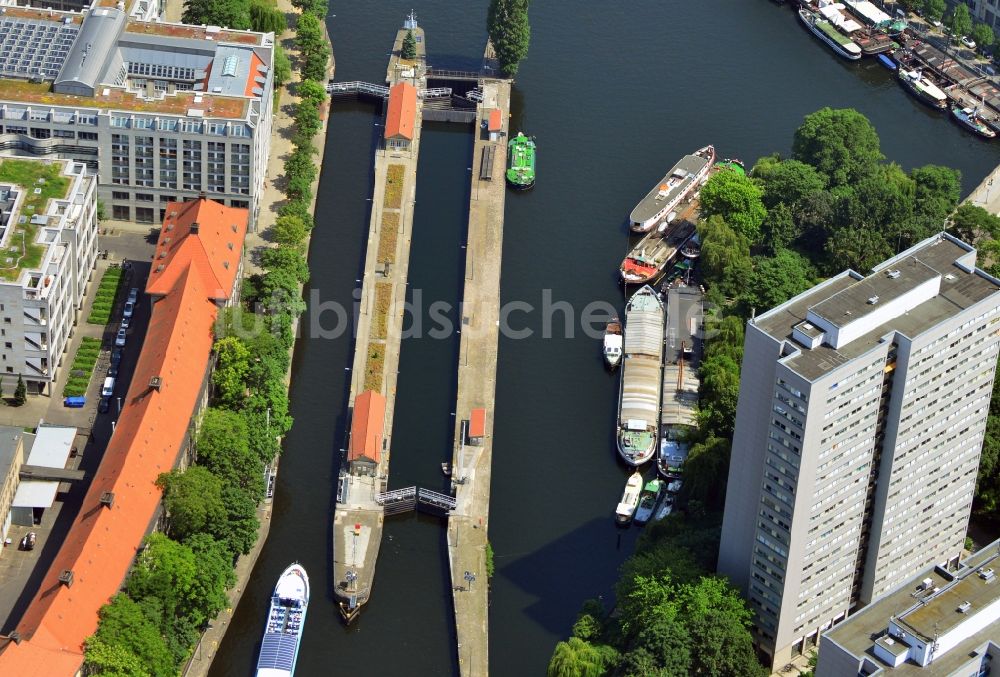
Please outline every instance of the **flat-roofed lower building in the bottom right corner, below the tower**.
M988 675L1000 658L1000 541L929 568L820 640L817 677Z

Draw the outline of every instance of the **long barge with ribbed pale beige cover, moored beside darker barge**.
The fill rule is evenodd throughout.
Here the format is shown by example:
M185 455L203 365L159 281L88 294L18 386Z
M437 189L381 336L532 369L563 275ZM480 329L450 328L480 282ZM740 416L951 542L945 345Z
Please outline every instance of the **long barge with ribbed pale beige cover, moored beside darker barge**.
M631 466L656 453L663 386L665 313L659 294L649 285L633 294L625 307L625 358L618 404L618 453Z

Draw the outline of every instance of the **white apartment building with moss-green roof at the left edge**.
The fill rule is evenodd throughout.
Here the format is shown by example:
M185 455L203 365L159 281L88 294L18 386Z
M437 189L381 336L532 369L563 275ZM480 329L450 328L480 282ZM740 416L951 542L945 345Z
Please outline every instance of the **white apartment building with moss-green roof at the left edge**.
M0 378L45 392L97 260L97 181L69 160L0 158Z

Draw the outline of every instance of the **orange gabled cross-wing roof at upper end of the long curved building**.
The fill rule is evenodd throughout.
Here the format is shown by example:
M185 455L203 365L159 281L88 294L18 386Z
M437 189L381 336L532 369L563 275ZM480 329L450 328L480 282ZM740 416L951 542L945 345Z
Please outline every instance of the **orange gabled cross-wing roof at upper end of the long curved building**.
M205 197L167 204L146 291L163 296L191 267L202 277L209 298L228 299L239 271L249 215L246 209L226 207Z

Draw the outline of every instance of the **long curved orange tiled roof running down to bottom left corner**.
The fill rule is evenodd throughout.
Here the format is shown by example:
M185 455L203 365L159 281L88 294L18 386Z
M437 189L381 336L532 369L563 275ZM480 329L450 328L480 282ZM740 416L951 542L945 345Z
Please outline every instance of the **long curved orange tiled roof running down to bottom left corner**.
M149 329L122 414L80 512L28 606L17 631L21 644L0 650L0 674L19 677L74 675L83 642L97 629L97 612L125 579L160 504L154 484L176 466L198 405L218 314L217 290L192 259L154 300ZM158 379L158 386L153 379ZM110 508L104 492L114 494ZM73 584L59 582L64 569Z

